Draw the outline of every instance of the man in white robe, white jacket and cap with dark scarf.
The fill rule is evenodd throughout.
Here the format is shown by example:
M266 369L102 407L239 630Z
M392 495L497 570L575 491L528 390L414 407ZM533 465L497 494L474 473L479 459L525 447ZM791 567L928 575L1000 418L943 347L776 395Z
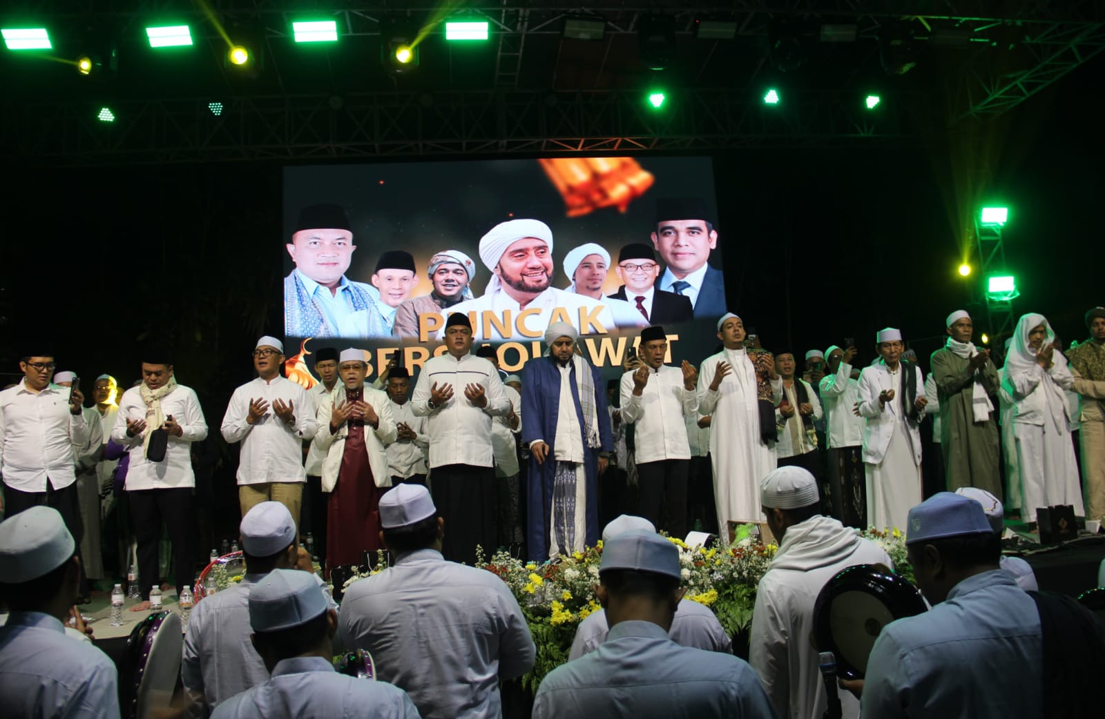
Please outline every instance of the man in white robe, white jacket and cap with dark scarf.
M867 486L867 525L905 527L909 509L920 503L920 420L925 379L902 359L902 331L878 330L880 359L860 373L860 416Z

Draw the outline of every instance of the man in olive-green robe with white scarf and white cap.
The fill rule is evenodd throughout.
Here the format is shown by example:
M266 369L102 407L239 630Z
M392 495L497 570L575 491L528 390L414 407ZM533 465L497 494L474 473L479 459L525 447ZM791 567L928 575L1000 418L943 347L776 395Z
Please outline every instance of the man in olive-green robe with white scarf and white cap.
M998 393L998 368L990 350L971 342L970 315L954 311L945 325L947 343L933 352L929 367L940 408L938 441L947 489L978 487L1000 497L998 412L990 400Z

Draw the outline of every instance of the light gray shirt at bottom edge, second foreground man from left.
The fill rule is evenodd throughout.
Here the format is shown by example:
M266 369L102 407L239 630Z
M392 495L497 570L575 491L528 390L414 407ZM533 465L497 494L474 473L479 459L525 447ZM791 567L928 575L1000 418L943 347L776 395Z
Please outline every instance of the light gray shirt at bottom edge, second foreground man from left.
M347 677L322 657L278 662L264 684L219 705L211 719L418 719L402 689Z

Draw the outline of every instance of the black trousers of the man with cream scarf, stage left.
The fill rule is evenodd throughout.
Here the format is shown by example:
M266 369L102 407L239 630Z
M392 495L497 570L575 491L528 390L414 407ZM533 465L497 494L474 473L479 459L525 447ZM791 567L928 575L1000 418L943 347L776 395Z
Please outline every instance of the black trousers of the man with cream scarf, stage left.
M158 584L157 544L161 539L161 522L169 530L172 542L172 572L177 594L192 584L192 551L196 518L192 511L191 487L175 489L137 489L127 491L130 519L138 539L138 585L143 599Z

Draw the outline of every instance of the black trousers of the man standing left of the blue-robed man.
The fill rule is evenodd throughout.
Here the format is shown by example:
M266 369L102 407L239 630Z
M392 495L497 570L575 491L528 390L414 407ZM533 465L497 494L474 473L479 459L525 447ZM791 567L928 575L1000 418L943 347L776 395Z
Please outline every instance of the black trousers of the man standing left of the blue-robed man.
M498 549L498 489L494 467L446 464L433 468L430 487L438 514L445 520L441 553L445 559L475 564L476 546L484 558Z

